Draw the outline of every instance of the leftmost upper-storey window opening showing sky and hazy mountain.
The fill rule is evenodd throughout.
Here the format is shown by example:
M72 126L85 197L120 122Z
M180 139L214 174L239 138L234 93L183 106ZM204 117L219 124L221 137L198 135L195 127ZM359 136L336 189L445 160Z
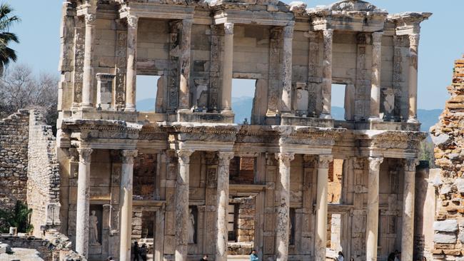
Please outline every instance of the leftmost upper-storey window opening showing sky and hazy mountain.
M136 82L137 111L155 112L158 81L161 76L138 75ZM163 95L161 93L161 95Z

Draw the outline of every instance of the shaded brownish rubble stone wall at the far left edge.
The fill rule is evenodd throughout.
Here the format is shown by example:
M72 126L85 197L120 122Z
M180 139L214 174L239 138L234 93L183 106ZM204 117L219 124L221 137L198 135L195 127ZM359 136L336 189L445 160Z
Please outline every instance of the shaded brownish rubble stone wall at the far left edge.
M29 111L0 120L0 208L26 203Z

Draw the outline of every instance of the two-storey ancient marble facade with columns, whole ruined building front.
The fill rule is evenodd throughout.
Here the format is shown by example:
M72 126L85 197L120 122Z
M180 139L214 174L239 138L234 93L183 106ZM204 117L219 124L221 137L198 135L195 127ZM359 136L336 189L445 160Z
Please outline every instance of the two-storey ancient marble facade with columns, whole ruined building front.
M418 45L430 15L355 0L66 1L61 232L89 260L129 260L134 241L153 260L254 249L324 261L327 247L413 260ZM157 76L153 111L136 107L138 76ZM234 121L233 79L256 83L249 123Z

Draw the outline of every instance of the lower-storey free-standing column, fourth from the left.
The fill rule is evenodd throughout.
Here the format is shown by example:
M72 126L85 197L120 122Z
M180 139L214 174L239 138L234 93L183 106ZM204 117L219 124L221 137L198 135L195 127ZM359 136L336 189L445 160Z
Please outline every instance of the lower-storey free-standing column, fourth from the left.
M228 188L229 188L229 165L233 158L232 152L219 152L218 164L218 186L217 186L217 207L218 207L218 240L216 242L216 261L227 261L228 247Z

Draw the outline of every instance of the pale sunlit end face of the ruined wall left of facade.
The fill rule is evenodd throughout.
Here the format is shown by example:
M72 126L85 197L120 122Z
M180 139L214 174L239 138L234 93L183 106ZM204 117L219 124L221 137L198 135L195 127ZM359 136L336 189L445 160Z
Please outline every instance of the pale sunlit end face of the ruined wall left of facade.
M41 230L56 227L61 222L56 140L51 126L46 125L44 115L39 110L30 111L28 148L27 203L32 209L34 235L40 237Z

